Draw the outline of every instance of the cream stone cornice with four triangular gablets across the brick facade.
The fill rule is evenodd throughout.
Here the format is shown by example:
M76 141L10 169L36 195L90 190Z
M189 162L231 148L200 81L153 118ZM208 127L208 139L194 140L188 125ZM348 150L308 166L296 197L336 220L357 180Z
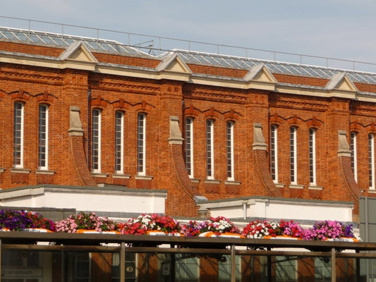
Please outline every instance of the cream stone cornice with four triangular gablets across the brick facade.
M162 61L157 68L102 63L98 62L94 56L91 56L90 52L82 45L77 45L75 49L67 50L59 58L0 51L0 63L55 68L57 70L71 68L123 77L150 80L176 80L195 85L226 87L238 90L268 90L304 96L337 97L358 99L364 102L376 102L376 94L360 93L346 74L334 75L325 87L279 83L272 73L262 65L250 69L244 78L229 78L219 75L191 73L190 68L178 56L171 56L169 60Z

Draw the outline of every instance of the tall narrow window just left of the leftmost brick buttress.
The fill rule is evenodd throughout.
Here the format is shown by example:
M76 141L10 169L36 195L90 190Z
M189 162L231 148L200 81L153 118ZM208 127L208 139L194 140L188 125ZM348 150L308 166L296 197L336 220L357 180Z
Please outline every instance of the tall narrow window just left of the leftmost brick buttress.
M48 169L48 105L40 104L38 118L38 166Z

